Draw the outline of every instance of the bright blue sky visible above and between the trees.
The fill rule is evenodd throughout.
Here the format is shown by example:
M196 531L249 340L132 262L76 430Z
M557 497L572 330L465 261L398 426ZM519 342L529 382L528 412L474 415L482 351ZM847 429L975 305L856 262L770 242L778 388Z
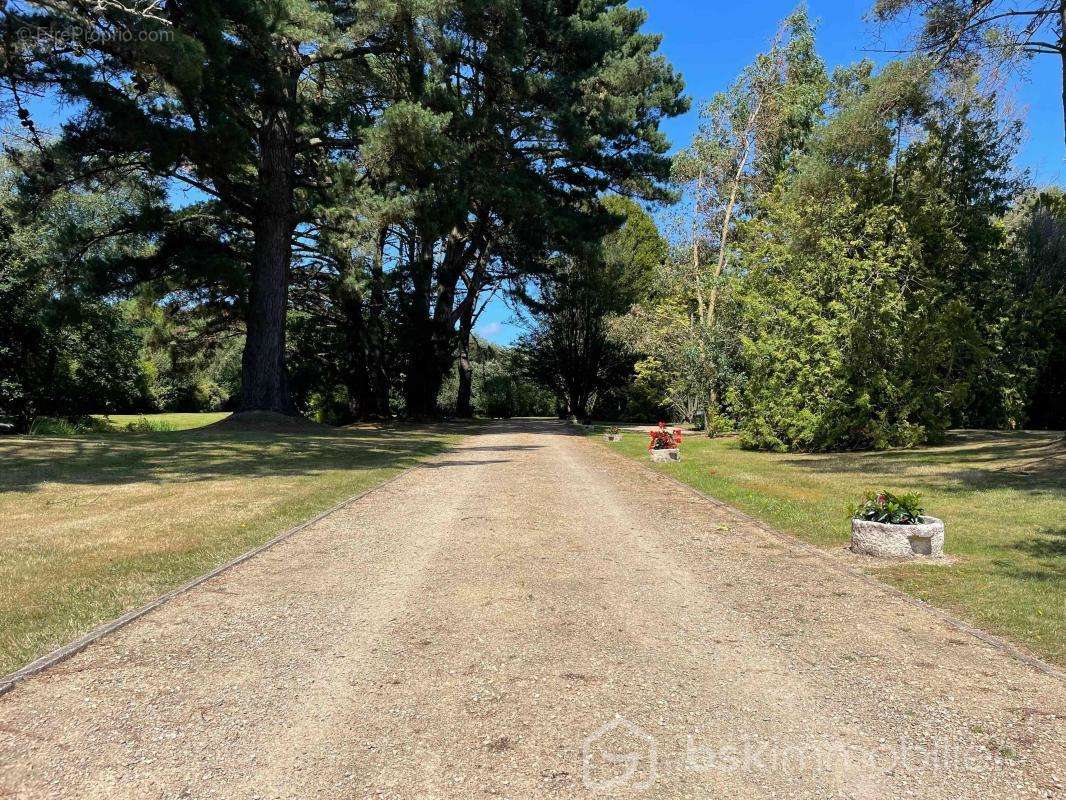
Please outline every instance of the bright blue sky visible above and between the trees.
M862 17L873 0L809 0L818 22L819 52L830 68L862 58L882 61L871 50L891 46L886 36ZM696 107L727 86L763 49L780 19L795 7L795 0L633 0L648 12L648 32L663 35L662 52L684 76L693 110L664 126L675 146L683 145L696 128ZM1029 170L1038 183L1064 182L1061 65L1049 55L1034 60L1029 78L1014 87L1014 105L1025 123L1018 166ZM485 309L478 333L499 343L510 343L520 329L512 324L511 310L500 301Z

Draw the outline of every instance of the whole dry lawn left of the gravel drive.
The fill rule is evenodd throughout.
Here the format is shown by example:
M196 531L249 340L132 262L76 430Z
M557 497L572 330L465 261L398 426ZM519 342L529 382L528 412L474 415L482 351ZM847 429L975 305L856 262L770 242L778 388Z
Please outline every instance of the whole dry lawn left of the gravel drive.
M452 441L227 425L0 439L0 675Z

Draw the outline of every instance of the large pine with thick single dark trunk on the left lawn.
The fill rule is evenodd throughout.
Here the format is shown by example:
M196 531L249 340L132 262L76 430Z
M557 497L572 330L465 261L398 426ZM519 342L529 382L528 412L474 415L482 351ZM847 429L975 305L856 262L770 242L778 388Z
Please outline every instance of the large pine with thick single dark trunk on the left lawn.
M367 9L371 11L367 11ZM244 286L245 410L291 413L285 318L294 229L369 123L389 6L355 2L9 4L5 78L81 109L48 144L46 172L140 172L214 198L251 237ZM25 109L23 109L25 111ZM56 166L58 165L58 166ZM47 182L47 181L46 181Z

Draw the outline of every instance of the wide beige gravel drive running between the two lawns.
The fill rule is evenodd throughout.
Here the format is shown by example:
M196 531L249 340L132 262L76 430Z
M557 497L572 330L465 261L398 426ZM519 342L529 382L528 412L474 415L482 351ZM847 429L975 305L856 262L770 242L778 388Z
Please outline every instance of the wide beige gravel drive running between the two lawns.
M0 797L1049 798L1060 679L499 423L0 698Z

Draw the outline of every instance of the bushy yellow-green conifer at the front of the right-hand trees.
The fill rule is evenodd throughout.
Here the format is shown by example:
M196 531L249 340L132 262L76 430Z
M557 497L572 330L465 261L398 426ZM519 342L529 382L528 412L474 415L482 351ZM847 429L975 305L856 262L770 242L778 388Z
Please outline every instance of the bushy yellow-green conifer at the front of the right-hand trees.
M782 206L762 224L776 233L760 237L757 266L739 293L742 442L825 450L922 438L936 418L925 375L901 368L914 330L901 276L914 253L893 210L863 221L846 202ZM796 250L804 235L809 246Z

